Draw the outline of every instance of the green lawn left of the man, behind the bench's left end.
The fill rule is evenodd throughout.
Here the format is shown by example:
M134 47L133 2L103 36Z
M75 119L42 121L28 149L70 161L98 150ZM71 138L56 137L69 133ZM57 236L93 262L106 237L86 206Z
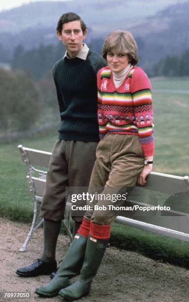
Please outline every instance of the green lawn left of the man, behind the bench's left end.
M17 146L22 144L33 149L51 151L57 138L56 131L32 139L0 145L0 215L12 220L31 221L32 195L26 182L27 166L21 161Z

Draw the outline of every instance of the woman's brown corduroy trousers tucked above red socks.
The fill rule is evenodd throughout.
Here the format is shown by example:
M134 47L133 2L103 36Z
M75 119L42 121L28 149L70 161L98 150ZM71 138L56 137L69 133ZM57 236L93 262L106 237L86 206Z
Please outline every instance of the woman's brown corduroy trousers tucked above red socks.
M138 136L108 133L99 142L96 149L96 161L93 168L89 193L100 191L103 196L118 194L122 188L134 187L138 175L144 168L144 158ZM116 205L122 204L117 202ZM109 210L114 205L109 198L94 200L88 205L93 206L85 214L85 218L99 225L111 225L116 213ZM94 210L94 205L106 210Z

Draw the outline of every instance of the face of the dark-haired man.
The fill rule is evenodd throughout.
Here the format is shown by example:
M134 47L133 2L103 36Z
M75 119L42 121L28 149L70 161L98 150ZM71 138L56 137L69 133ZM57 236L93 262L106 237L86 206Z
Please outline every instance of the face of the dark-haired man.
M74 58L83 47L83 40L87 35L82 32L80 21L71 21L63 24L62 33L57 32L58 38L63 41L68 55Z

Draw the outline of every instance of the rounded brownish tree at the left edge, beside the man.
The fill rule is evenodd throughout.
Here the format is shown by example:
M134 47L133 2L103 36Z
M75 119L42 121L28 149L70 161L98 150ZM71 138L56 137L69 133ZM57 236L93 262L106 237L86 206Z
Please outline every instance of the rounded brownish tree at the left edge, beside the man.
M0 128L27 130L39 116L39 97L32 78L25 72L0 70Z

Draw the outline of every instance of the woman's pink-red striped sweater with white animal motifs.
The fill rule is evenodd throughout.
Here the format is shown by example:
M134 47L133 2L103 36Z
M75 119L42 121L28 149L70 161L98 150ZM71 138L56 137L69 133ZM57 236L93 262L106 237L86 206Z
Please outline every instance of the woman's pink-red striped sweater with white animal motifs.
M116 88L109 67L99 70L98 124L100 138L106 133L139 136L144 156L154 154L151 84L139 67L133 67Z

